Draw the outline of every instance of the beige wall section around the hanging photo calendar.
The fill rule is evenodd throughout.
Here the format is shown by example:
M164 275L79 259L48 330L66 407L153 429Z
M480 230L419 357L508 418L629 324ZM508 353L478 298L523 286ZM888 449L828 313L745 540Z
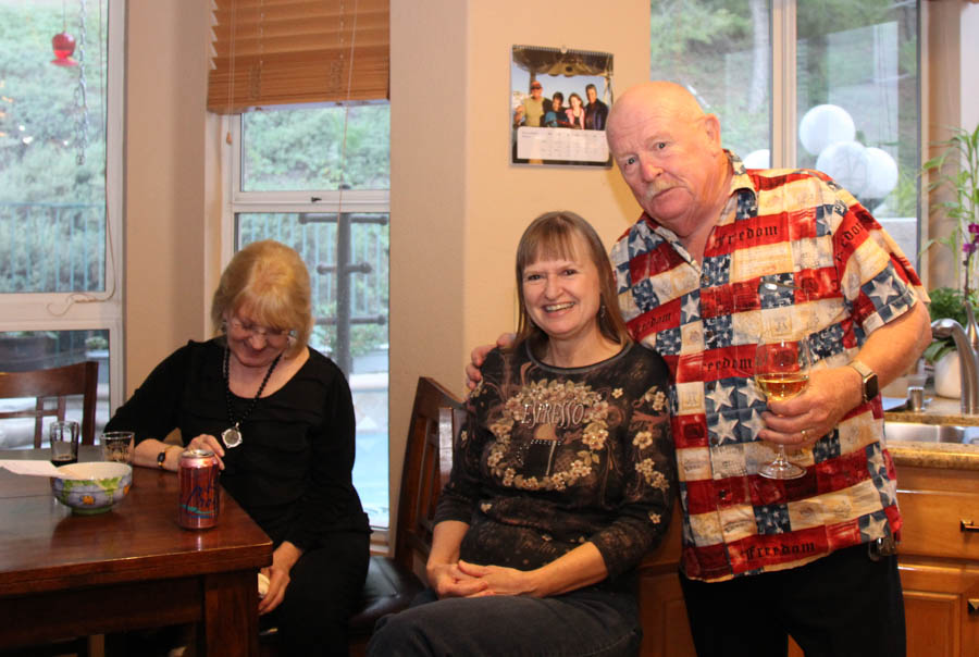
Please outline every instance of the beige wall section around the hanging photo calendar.
M611 52L621 91L648 76L649 3L396 0L391 9L396 485L418 376L461 394L470 349L513 328L513 255L530 220L573 210L610 245L639 212L614 170L508 163L510 47Z

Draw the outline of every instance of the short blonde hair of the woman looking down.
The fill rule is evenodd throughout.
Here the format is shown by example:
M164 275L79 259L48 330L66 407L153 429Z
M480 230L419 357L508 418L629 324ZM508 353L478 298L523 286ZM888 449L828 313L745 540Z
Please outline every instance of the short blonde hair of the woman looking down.
M312 300L306 263L289 247L265 239L232 258L211 302L211 321L220 331L226 312L246 310L251 320L269 328L289 331L288 355L309 343Z

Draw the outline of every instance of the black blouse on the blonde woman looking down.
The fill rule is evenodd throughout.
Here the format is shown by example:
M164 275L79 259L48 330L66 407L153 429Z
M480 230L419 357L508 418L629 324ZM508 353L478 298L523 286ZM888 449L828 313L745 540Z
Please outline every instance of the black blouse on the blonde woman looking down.
M184 445L200 434L220 439L232 425L223 357L223 338L187 343L157 365L106 431L134 431L137 444L174 429ZM232 395L236 419L250 402ZM310 348L299 371L241 423L244 441L225 449L221 483L276 546L310 549L331 532L369 532L351 479L355 426L347 380Z

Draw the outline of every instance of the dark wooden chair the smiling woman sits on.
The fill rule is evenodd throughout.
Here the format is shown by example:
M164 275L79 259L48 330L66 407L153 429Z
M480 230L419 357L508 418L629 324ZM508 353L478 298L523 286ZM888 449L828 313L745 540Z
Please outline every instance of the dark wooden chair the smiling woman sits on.
M464 417L455 395L432 379L419 377L401 468L394 555L371 557L359 610L350 618L351 655L364 654L379 618L408 608L425 587L420 574L432 548L438 494L453 468L453 437ZM276 633L262 632L262 655L278 654Z

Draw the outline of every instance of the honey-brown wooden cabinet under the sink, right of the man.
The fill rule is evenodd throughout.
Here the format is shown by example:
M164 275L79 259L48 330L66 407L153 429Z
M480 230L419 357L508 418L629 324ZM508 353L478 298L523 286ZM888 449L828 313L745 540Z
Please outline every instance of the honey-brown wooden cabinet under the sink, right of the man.
M979 655L979 472L897 467L909 657Z

